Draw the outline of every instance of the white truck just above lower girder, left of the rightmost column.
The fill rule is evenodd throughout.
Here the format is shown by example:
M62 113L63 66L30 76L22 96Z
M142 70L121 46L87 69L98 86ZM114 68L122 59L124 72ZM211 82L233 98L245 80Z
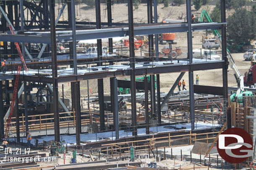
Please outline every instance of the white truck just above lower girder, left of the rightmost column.
M193 49L193 58L221 60L221 57L217 55L217 52L215 50L199 48Z

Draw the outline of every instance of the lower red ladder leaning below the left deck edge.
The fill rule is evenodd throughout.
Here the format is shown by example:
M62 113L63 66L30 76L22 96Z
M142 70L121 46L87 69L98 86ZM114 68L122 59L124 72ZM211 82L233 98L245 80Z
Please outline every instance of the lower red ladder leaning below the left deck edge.
M4 137L4 141L7 141L8 138L8 133L10 130L10 121L13 115L13 108L14 108L14 102L16 100L16 95L17 95L17 91L18 91L18 79L20 76L20 72L21 72L21 66L18 66L18 70L17 70L17 75L16 75L16 79L15 79L15 85L14 85L14 89L13 89L13 97L12 97L12 101L10 104L10 114L8 116L7 119L7 125L6 125L6 129L5 129L5 137ZM16 101L16 104L18 104L18 101Z

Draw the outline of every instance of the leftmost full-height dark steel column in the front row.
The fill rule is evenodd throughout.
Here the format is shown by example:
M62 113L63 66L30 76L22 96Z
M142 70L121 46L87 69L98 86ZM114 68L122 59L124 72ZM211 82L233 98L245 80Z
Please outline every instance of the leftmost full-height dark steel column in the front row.
M55 29L55 0L50 0L50 29L52 46L52 88L53 88L53 113L55 141L60 142L60 117L58 97L58 74L57 74L57 47Z

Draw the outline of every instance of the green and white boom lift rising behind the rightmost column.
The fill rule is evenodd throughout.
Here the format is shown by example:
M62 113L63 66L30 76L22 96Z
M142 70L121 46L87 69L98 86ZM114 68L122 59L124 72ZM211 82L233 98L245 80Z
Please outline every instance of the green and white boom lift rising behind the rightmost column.
M202 10L198 21L203 22L204 18L206 18L206 20L209 23L212 23L212 19L209 16L209 14L205 10ZM212 30L212 32L214 33L214 36L218 40L219 44L221 44L222 40L221 40L221 36L219 35L219 32L217 30ZM242 102L243 96L252 96L253 93L252 93L252 91L244 91L244 77L240 74L238 68L235 66L235 61L233 60L233 58L230 54L230 51L228 49L227 49L227 58L228 58L228 61L230 62L231 69L235 73L234 76L238 83L238 89L237 89L236 93L233 93L230 95L230 101L235 101L235 98L237 97L238 102Z

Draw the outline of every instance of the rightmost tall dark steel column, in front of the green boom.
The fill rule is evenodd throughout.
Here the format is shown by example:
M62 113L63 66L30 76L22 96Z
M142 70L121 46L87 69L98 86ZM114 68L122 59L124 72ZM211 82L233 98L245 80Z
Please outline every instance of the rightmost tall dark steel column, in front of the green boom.
M221 14L221 22L226 22L226 2L225 0L220 0L220 14ZM222 46L222 60L225 61L222 67L222 83L223 83L223 98L228 99L228 85L227 85L227 69L228 69L228 60L227 60L227 33L226 33L226 25L222 25L221 28L221 46ZM231 117L227 115L227 128L231 128Z

